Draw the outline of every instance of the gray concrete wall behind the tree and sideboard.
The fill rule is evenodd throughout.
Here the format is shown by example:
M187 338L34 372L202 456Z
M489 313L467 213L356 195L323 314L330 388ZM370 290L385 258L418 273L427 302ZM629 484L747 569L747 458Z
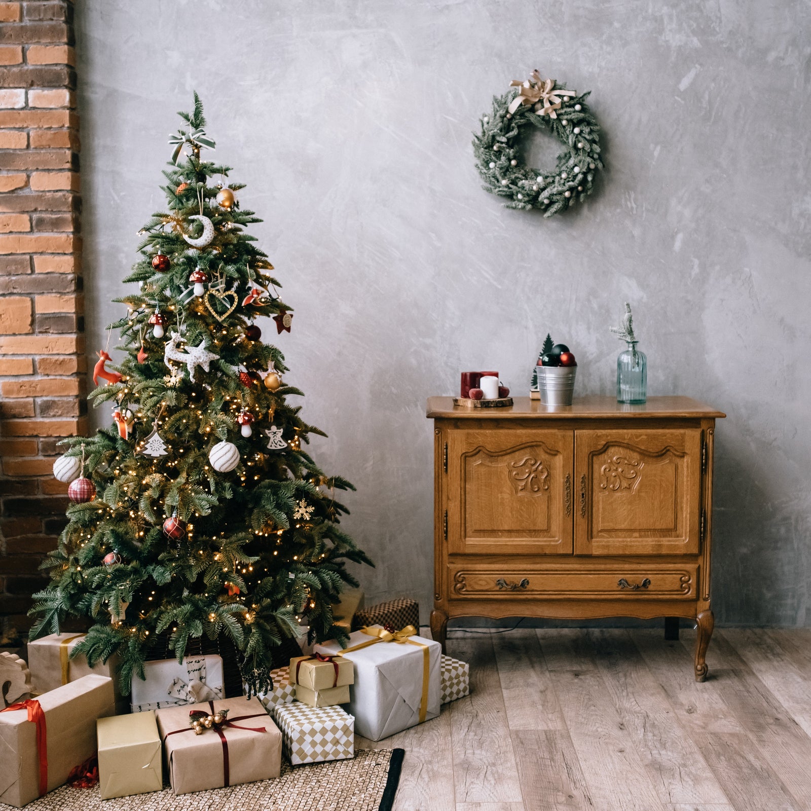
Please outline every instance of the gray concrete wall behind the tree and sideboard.
M371 599L430 608L426 397L483 367L523 393L547 330L579 391L610 394L629 300L649 393L729 415L718 620L811 624L807 2L77 0L76 17L88 350L197 89L296 307L278 344L330 435L314 453L358 487ZM593 91L609 167L551 221L482 191L470 147L534 67Z

